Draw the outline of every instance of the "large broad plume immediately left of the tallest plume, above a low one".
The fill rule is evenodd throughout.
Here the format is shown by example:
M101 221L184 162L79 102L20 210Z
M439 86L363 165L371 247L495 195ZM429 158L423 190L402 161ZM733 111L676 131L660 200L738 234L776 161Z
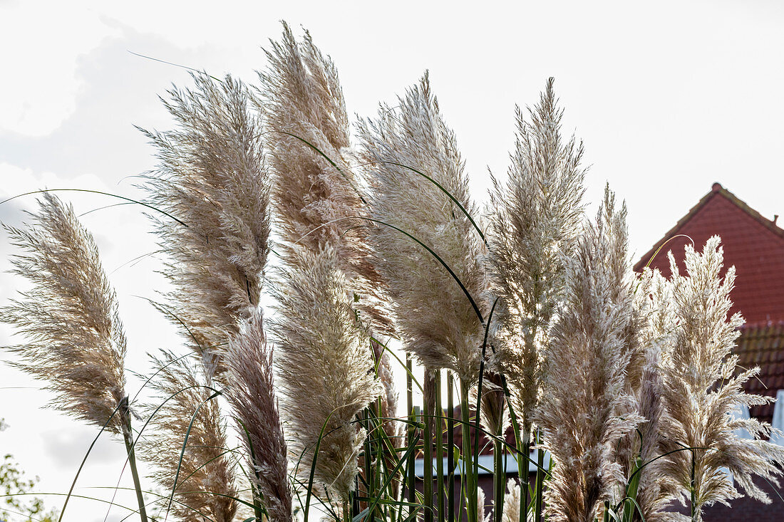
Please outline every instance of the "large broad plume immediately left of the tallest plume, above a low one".
M164 101L178 128L145 132L158 149L158 170L143 186L151 205L184 225L158 221L169 259L167 297L194 350L220 375L218 354L259 304L270 235L269 179L260 116L249 92L227 76L194 74L193 90L172 89Z

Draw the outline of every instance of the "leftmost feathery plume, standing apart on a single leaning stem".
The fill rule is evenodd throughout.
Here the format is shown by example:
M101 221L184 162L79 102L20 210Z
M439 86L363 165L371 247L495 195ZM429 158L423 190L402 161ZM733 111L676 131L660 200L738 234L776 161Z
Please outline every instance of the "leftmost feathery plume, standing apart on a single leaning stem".
M33 284L0 311L27 339L7 349L17 368L47 382L53 408L122 433L124 412L112 415L125 397L125 333L93 236L50 193L31 216L30 227L5 227L24 252L12 272Z

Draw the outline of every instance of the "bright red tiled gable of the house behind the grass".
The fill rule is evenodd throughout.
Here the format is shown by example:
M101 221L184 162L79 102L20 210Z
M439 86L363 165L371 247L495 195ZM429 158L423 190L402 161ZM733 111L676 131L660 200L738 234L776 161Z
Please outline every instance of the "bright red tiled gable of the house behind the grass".
M651 266L669 277L667 251L673 252L679 270L684 270L684 246L693 240L700 250L716 234L724 246L724 266L735 266L736 271L731 313L740 311L747 324L784 321L784 230L719 183L713 183L712 190L634 269L641 270L653 257Z

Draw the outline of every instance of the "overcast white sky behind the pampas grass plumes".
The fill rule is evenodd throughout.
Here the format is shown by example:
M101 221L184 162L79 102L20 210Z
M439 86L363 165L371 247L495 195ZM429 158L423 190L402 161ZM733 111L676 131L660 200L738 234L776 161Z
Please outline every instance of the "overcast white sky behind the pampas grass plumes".
M430 69L477 200L485 200L488 167L506 170L514 105L534 103L554 76L564 129L586 146L588 195L597 201L608 181L626 199L637 254L715 181L764 216L784 210L782 2L266 4L0 0L0 200L44 187L138 198L128 176L154 159L132 125L168 129L157 96L189 78L129 51L253 80L264 67L260 46L278 38L285 19L298 32L307 27L335 60L350 114L373 114ZM80 212L116 202L61 195ZM34 198L0 205L0 220L19 223L24 208ZM143 371L144 352L177 343L137 297L162 288L156 260L122 266L154 250L148 223L130 206L92 212L84 223L118 289L129 367ZM2 270L7 241L0 236ZM20 288L23 281L0 274L0 303ZM0 326L0 345L9 343ZM42 411L46 394L29 386L36 384L2 365L0 417L10 428L0 433L0 454L12 452L40 475L42 491L65 492L95 430ZM110 498L87 487L114 484L123 453L122 444L100 444L80 493ZM79 501L68 511L65 520L92 522L106 507ZM109 520L125 514L114 508Z

